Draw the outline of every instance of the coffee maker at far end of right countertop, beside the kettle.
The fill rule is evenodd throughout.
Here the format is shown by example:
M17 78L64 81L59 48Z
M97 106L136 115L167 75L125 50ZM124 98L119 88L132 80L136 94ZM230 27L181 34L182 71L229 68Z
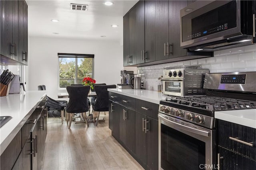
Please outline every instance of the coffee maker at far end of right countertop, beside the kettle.
M122 77L120 80L120 84L117 84L119 89L131 89L130 80L134 77L133 71L120 70L120 76Z

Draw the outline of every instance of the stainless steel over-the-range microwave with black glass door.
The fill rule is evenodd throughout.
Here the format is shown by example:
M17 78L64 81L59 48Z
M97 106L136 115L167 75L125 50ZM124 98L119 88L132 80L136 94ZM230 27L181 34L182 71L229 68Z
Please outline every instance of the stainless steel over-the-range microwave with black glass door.
M190 51L256 43L256 1L196 1L180 10L180 23L180 46Z

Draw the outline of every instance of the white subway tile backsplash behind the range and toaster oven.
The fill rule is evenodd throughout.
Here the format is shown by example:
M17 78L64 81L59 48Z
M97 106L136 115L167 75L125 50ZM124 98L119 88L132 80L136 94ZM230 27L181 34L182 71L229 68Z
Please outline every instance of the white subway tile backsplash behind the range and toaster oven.
M138 75L144 81L144 88L157 90L158 77L162 76L165 66L200 65L214 72L245 72L256 71L256 44L214 51L214 57L179 61L138 67Z

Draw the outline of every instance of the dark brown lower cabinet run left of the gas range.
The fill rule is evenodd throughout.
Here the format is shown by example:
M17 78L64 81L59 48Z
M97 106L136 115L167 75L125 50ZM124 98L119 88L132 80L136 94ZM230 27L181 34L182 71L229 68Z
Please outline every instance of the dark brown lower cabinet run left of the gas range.
M109 93L112 136L143 168L157 170L159 105L121 94L118 100L111 96L115 96L113 92Z

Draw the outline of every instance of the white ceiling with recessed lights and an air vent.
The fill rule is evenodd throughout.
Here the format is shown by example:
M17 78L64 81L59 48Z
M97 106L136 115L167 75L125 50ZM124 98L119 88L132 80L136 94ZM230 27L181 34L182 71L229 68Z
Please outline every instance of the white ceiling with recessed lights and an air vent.
M106 39L123 37L123 16L138 0L26 0L28 35L72 39ZM70 3L86 4L87 11L70 10ZM52 22L51 20L60 20ZM114 28L112 24L119 25ZM59 34L53 34L59 33ZM100 37L105 35L106 37Z

